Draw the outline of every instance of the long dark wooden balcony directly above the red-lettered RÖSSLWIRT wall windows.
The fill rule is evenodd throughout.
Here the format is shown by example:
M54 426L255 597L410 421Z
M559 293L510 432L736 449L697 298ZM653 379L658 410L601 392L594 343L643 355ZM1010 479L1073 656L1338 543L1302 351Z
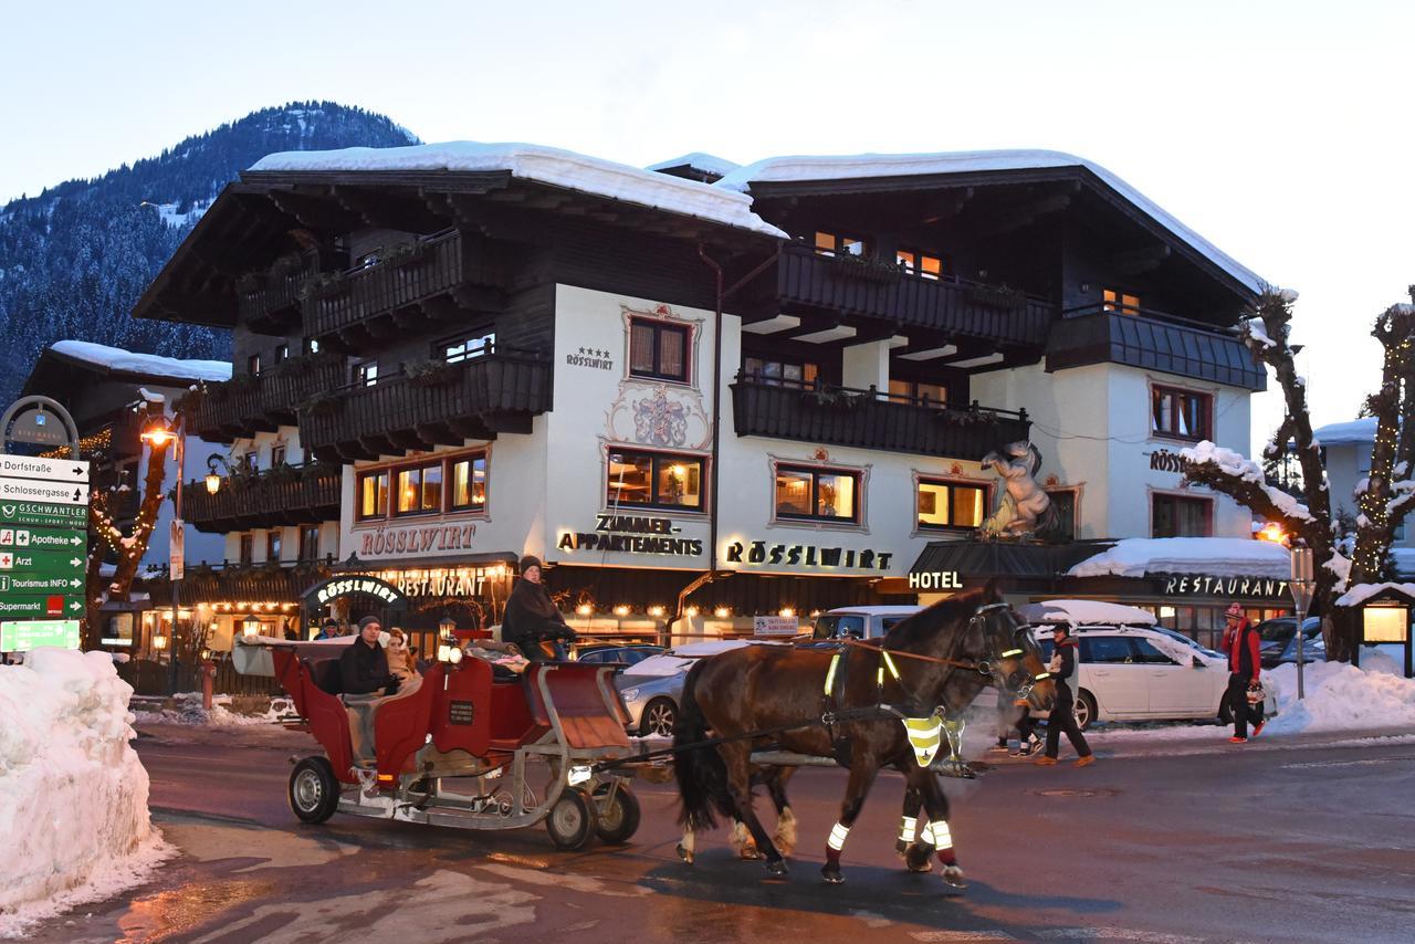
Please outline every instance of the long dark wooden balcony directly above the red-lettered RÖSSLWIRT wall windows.
M550 362L504 348L345 386L300 413L300 442L327 461L371 460L467 439L529 433L550 409Z

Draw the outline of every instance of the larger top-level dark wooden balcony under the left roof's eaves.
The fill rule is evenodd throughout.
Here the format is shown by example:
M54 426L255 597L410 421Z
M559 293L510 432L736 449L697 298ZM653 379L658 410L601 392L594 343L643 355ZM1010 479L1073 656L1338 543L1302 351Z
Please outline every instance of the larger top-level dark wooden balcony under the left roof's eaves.
M468 306L499 306L495 260L473 253L456 229L398 246L382 262L323 279L323 284L306 289L306 334L344 348L405 334L422 321L466 320Z

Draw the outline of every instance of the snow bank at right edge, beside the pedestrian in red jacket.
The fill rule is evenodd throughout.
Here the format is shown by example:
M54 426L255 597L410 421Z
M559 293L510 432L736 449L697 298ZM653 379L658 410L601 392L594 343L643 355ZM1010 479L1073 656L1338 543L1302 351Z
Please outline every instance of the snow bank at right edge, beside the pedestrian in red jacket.
M1279 686L1279 733L1415 727L1415 679L1401 678L1384 652L1361 654L1361 668L1347 662L1312 662L1305 671L1306 698L1298 701L1298 668L1266 672Z

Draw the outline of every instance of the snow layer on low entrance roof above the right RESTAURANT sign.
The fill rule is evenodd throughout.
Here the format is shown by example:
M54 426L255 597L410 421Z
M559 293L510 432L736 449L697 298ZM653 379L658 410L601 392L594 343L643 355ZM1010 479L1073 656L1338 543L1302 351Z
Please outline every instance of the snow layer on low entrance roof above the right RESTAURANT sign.
M1288 549L1248 538L1124 538L1114 548L1067 570L1073 577L1143 577L1150 573L1206 573L1286 580Z

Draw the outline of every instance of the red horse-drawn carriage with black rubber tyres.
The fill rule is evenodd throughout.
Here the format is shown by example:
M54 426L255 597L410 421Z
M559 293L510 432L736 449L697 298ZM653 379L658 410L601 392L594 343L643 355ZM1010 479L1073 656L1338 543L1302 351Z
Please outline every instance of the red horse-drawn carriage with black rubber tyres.
M436 662L416 692L374 716L376 766L357 767L338 696L344 647L270 644L273 668L324 754L290 774L290 808L304 822L335 812L463 829L545 821L562 849L591 838L625 842L638 828L627 774L596 764L631 753L613 669L532 664L494 678L490 662Z

